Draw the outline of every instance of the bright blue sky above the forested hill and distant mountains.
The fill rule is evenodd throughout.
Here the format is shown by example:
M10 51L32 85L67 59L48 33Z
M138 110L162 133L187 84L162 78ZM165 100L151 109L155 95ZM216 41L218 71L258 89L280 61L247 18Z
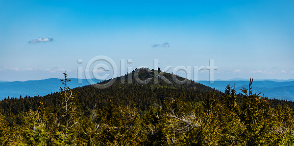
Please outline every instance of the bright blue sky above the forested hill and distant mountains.
M77 67L99 55L118 66L132 59L125 68L215 60L221 80L293 79L293 8L293 0L0 0L0 80L62 78L65 70L77 78ZM29 43L37 38L53 40Z

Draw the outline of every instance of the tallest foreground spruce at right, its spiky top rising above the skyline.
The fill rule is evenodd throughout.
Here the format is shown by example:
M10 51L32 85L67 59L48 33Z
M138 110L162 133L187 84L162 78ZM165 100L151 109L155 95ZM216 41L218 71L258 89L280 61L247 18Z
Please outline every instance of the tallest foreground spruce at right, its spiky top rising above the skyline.
M252 94L252 83L253 79L250 79L249 91L244 87L242 89L245 94L239 116L245 130L240 140L245 141L246 146L274 145L279 138L275 135L277 125L272 108L267 98L259 96L261 93Z

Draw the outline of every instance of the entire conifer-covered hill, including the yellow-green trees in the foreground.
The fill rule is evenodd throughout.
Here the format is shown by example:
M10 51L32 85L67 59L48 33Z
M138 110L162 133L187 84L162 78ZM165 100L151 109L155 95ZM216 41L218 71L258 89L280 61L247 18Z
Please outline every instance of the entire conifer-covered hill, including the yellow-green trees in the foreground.
M85 85L0 101L2 146L291 146L293 102L249 90L222 93L172 74L141 70L105 89ZM62 83L68 83L67 74ZM154 79L158 77L158 84ZM180 81L184 78L176 77ZM110 80L101 82L105 84ZM63 88L64 87L64 88Z

